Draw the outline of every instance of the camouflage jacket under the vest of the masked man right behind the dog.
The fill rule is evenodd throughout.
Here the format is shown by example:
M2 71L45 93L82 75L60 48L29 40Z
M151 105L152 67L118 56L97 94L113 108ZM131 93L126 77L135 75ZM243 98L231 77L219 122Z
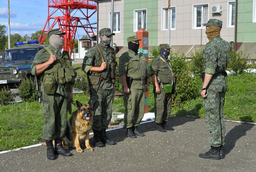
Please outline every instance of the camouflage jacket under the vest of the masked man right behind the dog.
M102 56L104 57L104 61L107 63L107 79L102 79L101 80L101 84L99 89L101 90L108 90L108 89L112 89L114 84L113 84L113 80L111 79L111 70L114 70L115 73L115 67L114 69L109 68L111 63L115 63L116 64L116 60L115 60L115 50L110 47L110 46L104 46L101 43L99 44L103 50L103 54ZM99 67L101 66L102 63L102 59L101 59L101 55L100 53L97 52L97 49L95 46L93 46L92 48L90 48L88 50L88 52L85 54L84 60L83 60L83 64L82 64L82 70L85 73L90 72L91 67ZM96 75L96 72L91 72L91 75ZM114 76L115 77L115 76Z

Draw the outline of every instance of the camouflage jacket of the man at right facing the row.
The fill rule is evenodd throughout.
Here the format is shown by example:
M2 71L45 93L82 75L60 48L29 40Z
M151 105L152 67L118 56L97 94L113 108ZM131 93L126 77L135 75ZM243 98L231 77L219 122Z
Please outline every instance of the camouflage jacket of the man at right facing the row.
M230 44L215 37L210 40L203 50L203 72L209 74L223 73L226 71L229 61Z

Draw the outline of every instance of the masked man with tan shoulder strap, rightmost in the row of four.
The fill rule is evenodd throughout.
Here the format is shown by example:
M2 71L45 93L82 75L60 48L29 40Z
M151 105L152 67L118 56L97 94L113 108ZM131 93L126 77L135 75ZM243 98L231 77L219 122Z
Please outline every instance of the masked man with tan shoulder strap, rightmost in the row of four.
M150 73L154 83L155 124L158 131L166 132L166 130L174 130L167 125L171 116L172 93L168 91L165 93L163 89L163 86L173 85L172 66L168 59L171 47L168 44L160 44L159 47L160 56L152 61Z

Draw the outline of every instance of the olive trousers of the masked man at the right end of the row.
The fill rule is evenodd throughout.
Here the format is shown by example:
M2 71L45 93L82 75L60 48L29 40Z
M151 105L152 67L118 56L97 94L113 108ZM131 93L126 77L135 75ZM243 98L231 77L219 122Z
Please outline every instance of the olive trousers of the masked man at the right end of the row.
M167 121L171 116L172 110L172 94L165 94L162 87L160 87L161 93L157 94L154 88L155 98L155 123L162 123Z

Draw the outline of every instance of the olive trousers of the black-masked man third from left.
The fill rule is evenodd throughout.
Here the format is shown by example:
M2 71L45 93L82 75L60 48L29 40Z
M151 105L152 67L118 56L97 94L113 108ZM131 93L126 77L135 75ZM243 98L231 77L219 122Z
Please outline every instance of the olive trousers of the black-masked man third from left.
M139 126L145 112L145 91L130 89L130 93L123 95L125 106L124 128Z

